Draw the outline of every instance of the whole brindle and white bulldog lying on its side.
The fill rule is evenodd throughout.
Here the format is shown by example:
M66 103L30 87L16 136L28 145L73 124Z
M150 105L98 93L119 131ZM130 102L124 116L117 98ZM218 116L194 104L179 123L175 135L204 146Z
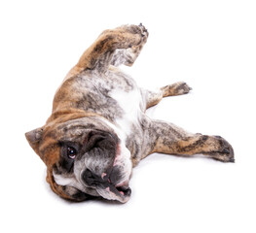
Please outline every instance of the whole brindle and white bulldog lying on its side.
M118 68L133 64L148 35L141 23L103 31L56 90L46 124L25 133L59 196L126 203L132 167L154 152L235 161L222 137L188 133L146 116L163 97L191 89L179 82L149 91Z

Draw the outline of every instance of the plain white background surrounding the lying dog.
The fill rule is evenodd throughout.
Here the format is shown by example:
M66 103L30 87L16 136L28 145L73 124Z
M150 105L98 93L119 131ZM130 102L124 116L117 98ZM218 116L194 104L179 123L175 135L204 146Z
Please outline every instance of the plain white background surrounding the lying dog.
M1 232L256 232L255 13L247 0L1 1ZM133 170L127 204L66 202L24 133L45 123L102 30L140 22L148 43L124 69L144 87L193 87L148 114L223 136L236 163L153 154Z

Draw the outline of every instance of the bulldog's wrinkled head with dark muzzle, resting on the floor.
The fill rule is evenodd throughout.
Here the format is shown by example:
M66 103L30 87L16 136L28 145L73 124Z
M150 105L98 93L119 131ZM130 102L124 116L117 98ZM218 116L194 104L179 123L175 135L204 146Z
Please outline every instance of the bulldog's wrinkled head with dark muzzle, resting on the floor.
M51 121L26 138L46 163L47 181L58 195L128 201L130 153L104 121L93 116Z

